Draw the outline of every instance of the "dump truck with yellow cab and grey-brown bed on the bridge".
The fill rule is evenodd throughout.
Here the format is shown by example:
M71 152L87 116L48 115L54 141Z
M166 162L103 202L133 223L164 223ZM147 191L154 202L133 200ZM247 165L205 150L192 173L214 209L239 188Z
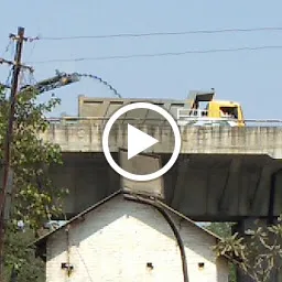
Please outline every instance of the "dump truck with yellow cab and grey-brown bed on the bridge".
M242 108L235 101L215 99L215 90L189 91L186 99L155 98L90 98L78 97L78 116L83 119L96 118L102 123L119 108L132 102L151 102L167 110L178 126L195 127L243 127ZM128 112L123 121L131 123L160 124L161 118L147 109ZM165 122L165 120L163 120Z

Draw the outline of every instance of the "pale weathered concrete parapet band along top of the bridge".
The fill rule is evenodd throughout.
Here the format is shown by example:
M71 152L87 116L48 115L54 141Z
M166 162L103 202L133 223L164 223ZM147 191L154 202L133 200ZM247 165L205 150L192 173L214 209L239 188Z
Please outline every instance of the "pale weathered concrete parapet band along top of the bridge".
M134 124L137 126L137 124ZM160 143L147 152L171 153L174 137L170 127L137 126ZM64 152L101 152L102 124L95 121L52 123L42 134L45 141L58 143ZM282 128L199 128L182 127L182 153L268 154L282 159ZM127 124L116 124L109 139L111 152L127 148Z

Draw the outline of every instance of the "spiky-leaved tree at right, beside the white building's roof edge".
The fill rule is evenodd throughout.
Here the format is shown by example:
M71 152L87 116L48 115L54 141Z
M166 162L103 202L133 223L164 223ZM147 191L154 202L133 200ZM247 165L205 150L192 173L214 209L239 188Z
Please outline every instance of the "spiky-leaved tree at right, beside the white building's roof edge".
M238 267L256 282L273 281L281 275L282 268L282 223L259 226L248 237L237 232L227 236L216 247L217 256L232 253ZM275 281L281 281L275 280Z

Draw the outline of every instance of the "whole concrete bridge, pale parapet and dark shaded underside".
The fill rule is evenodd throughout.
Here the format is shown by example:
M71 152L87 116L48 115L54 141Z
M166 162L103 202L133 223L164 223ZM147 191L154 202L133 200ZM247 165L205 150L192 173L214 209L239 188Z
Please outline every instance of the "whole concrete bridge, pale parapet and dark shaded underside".
M51 173L56 184L70 191L65 205L69 216L120 188L120 176L102 153L104 123L95 119L62 121L51 123L42 135L63 150L64 165ZM174 147L171 128L134 126L160 140L151 152L166 163ZM163 177L167 204L195 220L207 221L271 219L282 212L282 128L180 129L181 155ZM112 128L109 143L119 162L118 149L127 148L127 124Z

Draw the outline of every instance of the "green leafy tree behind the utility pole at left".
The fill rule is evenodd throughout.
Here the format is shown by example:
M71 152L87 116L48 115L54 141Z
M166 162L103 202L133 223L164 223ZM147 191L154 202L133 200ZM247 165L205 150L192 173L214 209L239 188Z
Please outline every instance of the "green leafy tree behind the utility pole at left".
M25 235L26 238L34 238L34 231L52 215L62 213L61 199L67 193L63 187L55 187L47 173L51 164L62 163L59 147L43 142L39 138L39 132L45 131L48 127L45 115L59 104L59 99L53 95L47 102L36 102L37 97L39 93L35 89L28 88L18 95L15 106L11 153L13 193L4 246L6 265L9 270L17 265L18 270L22 271L24 260L30 258L30 250L24 249L19 240L19 246L15 246L17 238L23 236L17 229L18 223L21 220L29 229L30 236ZM3 148L9 106L3 88L0 88L0 145ZM0 159L2 158L3 150L0 151ZM26 238L21 242L26 242ZM11 248L11 241L13 241L13 248ZM14 249L15 247L18 250ZM10 253L11 250L13 253ZM31 265L33 264L28 268ZM21 276L21 281L25 280Z

